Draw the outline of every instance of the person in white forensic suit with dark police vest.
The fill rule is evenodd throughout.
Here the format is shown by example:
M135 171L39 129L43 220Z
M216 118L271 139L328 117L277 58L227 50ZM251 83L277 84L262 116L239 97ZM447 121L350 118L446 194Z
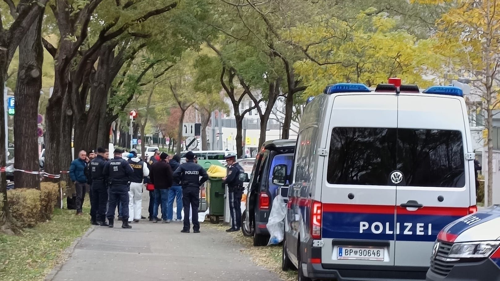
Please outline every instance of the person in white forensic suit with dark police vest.
M137 157L135 149L128 154L128 163L133 169L128 190L128 222L139 222L142 213L142 188L144 177L149 175L147 164Z

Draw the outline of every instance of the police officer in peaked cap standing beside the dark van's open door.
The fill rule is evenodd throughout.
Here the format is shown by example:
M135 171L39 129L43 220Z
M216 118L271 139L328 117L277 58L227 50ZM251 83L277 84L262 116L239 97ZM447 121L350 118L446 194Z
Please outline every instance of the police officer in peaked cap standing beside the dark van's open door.
M228 154L224 159L229 166L227 176L222 177L222 183L227 184L229 196L229 211L231 214L231 228L226 232L239 231L241 227L241 196L243 194L243 181L239 179L239 175L244 173L244 169L236 163L236 155Z

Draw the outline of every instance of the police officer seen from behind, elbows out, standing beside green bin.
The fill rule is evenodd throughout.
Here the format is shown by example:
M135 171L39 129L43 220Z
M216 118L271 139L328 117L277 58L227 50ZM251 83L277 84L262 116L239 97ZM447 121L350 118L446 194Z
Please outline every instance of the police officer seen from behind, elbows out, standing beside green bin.
M173 181L182 186L182 205L184 207L184 227L180 232L189 233L189 206L192 208L192 230L199 233L198 205L199 187L208 179L205 169L194 162L192 151L185 154L186 162L173 173ZM201 179L199 178L201 176Z

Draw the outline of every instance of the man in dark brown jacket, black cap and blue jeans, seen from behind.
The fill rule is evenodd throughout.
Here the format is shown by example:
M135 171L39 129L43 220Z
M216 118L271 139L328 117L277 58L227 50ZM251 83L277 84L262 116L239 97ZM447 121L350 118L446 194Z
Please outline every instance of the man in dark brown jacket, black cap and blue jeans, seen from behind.
M168 223L166 219L168 205L168 189L172 186L172 168L168 164L168 154L162 152L160 160L152 164L149 172L149 179L154 184L154 207L153 222L158 222L158 206L161 203L161 218L163 223Z

